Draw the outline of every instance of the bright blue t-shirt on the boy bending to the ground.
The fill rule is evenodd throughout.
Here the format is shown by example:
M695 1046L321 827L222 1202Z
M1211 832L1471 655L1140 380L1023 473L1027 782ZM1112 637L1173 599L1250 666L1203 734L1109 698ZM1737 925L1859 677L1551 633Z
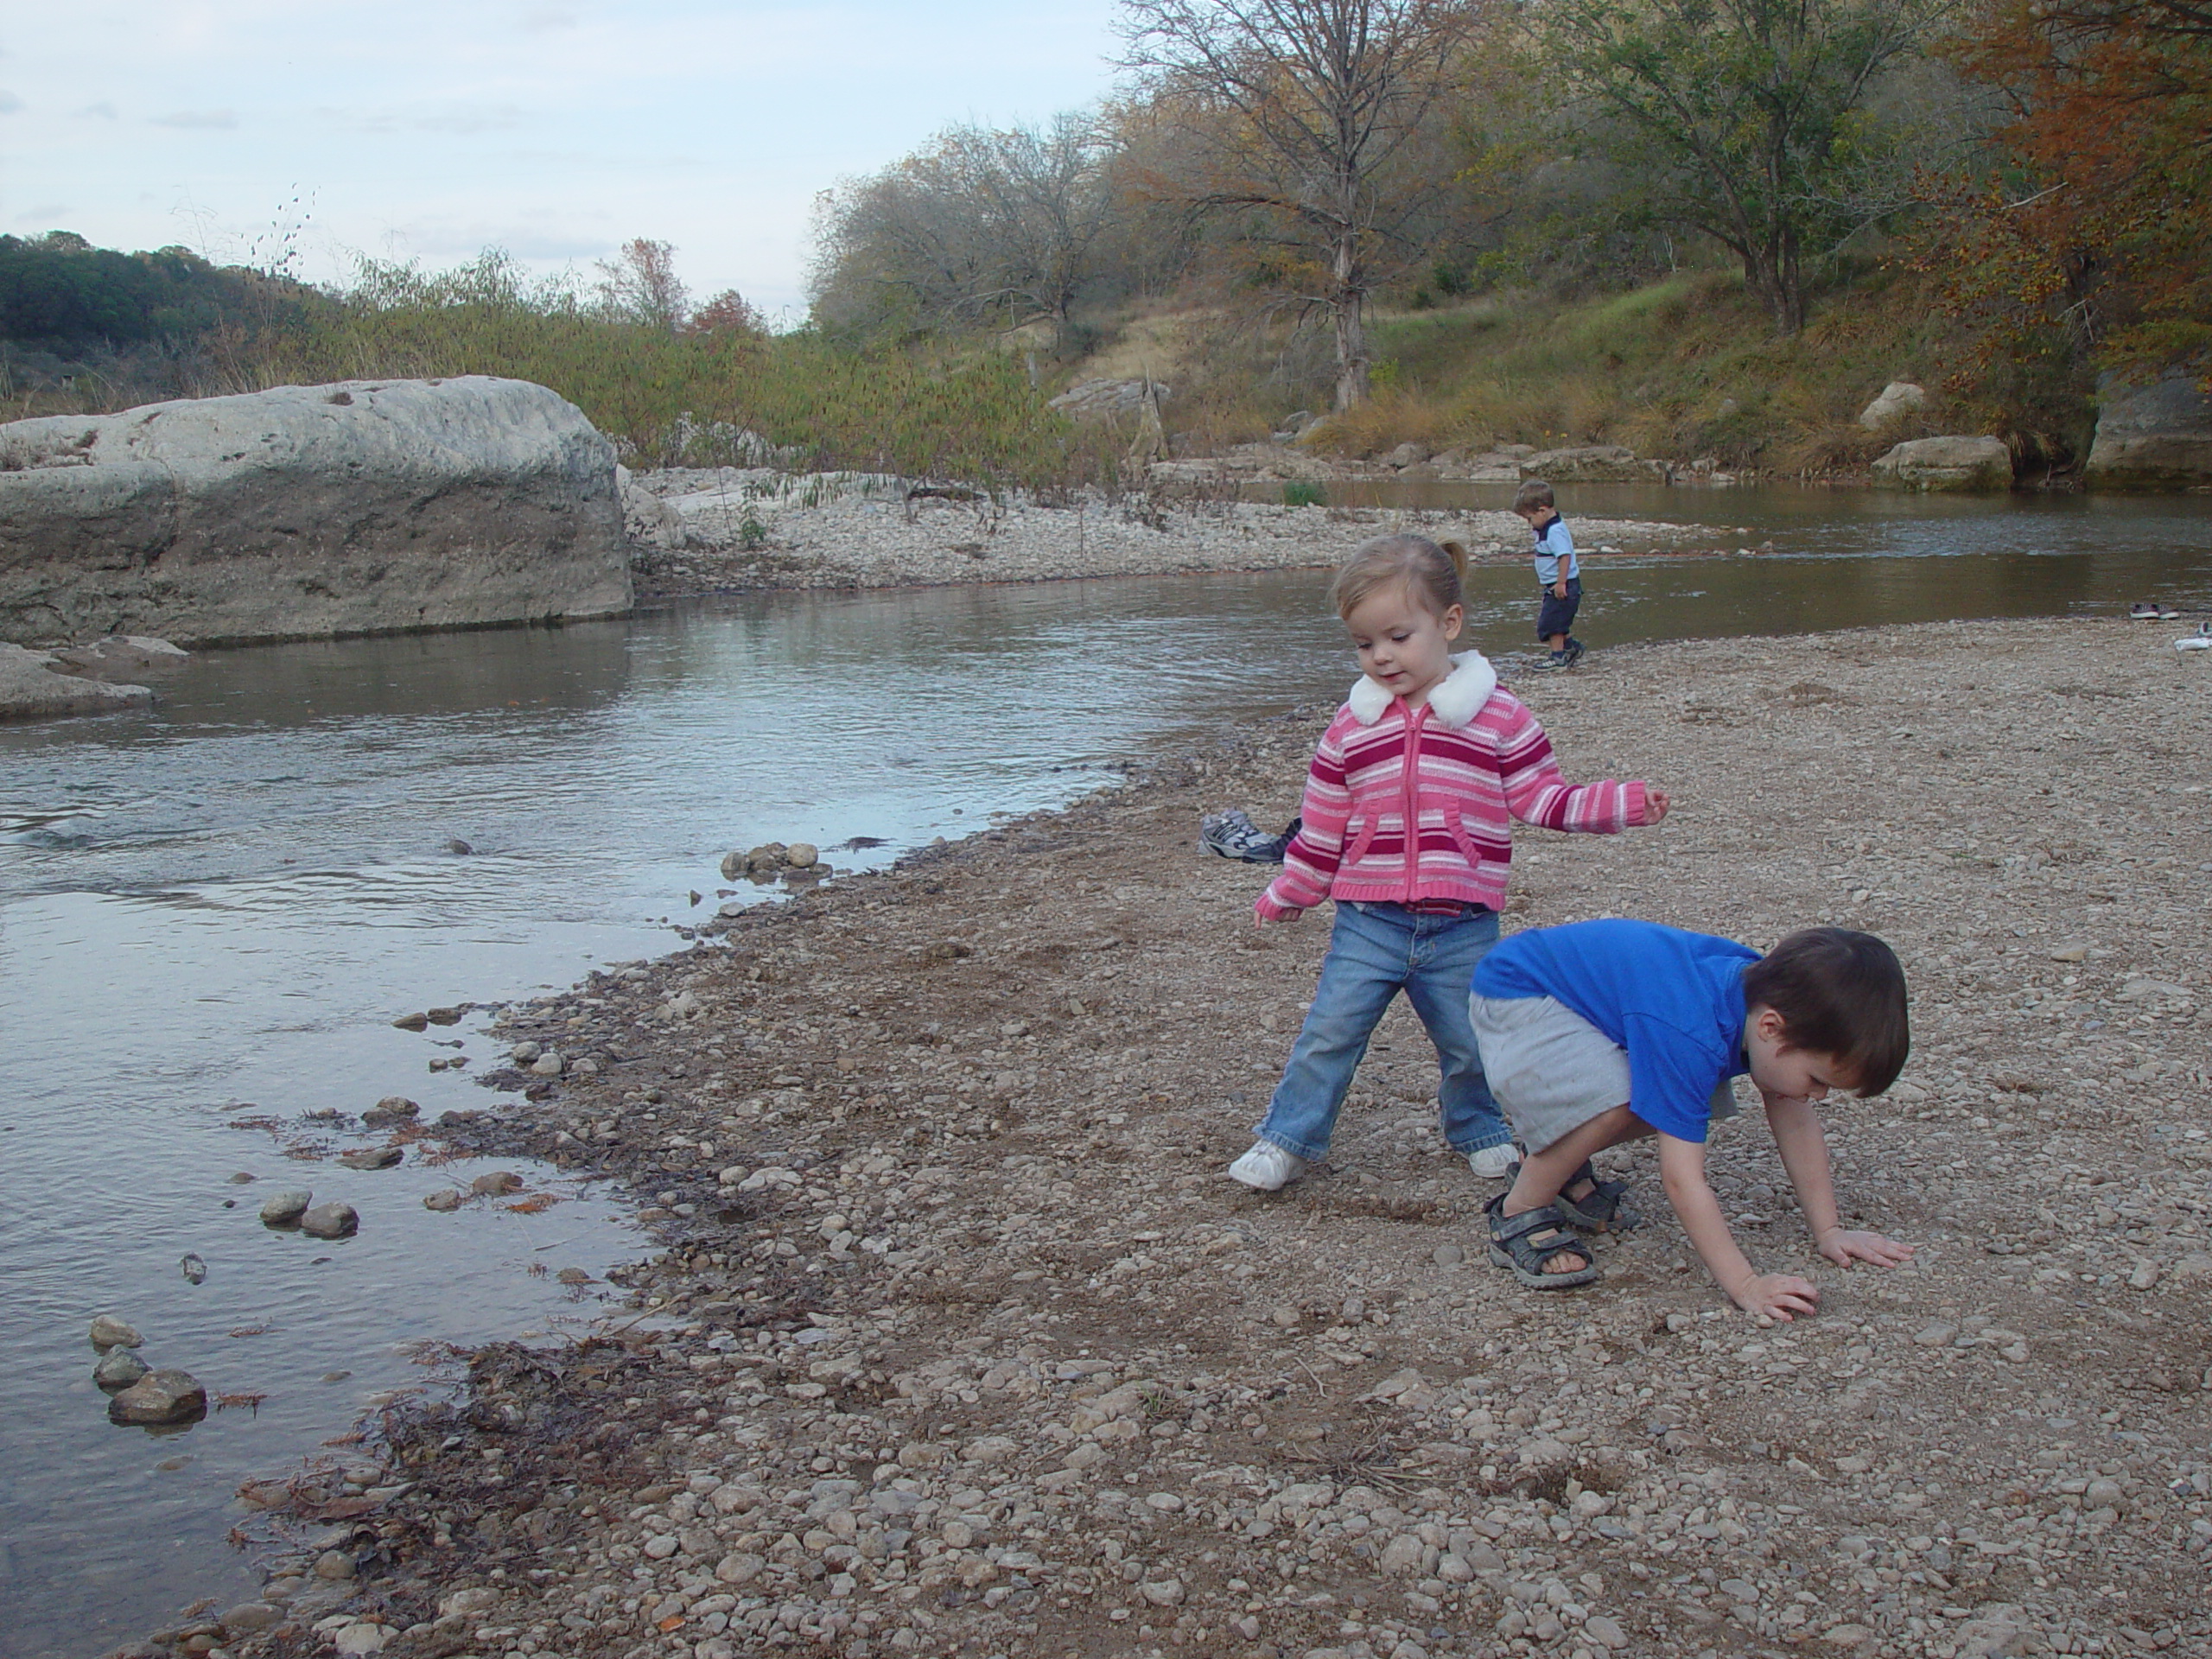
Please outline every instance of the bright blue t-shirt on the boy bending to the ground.
M1628 1051L1628 1106L1683 1141L1703 1141L1712 1091L1750 1071L1743 969L1759 951L1659 922L1568 922L1498 945L1475 995L1557 998Z

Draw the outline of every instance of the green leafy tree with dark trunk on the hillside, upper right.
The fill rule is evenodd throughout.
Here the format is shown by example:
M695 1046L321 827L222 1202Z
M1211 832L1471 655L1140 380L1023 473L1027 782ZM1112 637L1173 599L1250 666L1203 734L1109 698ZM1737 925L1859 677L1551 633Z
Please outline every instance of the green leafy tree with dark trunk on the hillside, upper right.
M1776 330L1805 325L1807 259L1878 217L1882 73L1951 0L1548 0L1537 29L1652 212L1743 261ZM1869 208L1869 201L1874 204Z

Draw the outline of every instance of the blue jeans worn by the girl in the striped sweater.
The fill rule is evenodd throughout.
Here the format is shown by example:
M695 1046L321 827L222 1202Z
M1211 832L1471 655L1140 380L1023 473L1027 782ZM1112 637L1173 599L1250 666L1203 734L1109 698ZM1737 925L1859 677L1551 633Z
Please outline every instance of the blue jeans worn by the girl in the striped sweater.
M1436 1044L1444 1139L1480 1152L1513 1139L1491 1099L1467 1018L1475 962L1498 945L1498 914L1422 916L1405 905L1338 905L1329 953L1283 1082L1254 1128L1263 1141L1314 1161L1327 1157L1336 1113L1394 995L1405 991Z

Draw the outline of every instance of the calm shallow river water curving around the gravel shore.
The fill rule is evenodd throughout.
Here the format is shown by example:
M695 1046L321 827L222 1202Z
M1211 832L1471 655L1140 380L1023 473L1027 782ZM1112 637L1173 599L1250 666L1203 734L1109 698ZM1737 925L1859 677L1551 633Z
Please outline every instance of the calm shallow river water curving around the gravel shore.
M2137 597L2212 611L2201 498L1590 489L1575 507L1776 544L1593 557L1577 633L1599 650ZM323 1157L383 1137L310 1113L498 1099L471 1068L429 1071L484 1068L482 1013L427 1033L396 1015L688 949L670 929L712 909L730 847L880 838L832 854L860 867L1064 803L1110 759L1334 701L1352 666L1325 582L759 595L265 646L195 659L150 714L0 728L0 1659L84 1659L192 1597L243 1599L257 1579L223 1542L243 1480L343 1460L327 1442L420 1387L434 1345L580 1329L597 1285L557 1272L597 1281L648 1248L617 1194L549 1168L498 1166L549 1208L434 1214L422 1194L476 1166ZM1533 580L1478 571L1469 611L1511 677ZM2146 624L2146 650L2174 633ZM261 1228L285 1186L354 1203L361 1234ZM237 1405L181 1433L108 1425L102 1312Z

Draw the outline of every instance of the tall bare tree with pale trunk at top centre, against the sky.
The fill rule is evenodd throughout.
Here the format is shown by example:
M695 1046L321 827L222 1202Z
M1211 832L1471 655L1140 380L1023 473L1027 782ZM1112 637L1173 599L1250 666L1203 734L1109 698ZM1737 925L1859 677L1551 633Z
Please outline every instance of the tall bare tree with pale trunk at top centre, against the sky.
M1336 336L1336 407L1367 398L1367 296L1420 254L1451 177L1422 155L1482 22L1471 0L1121 0L1121 60L1181 115L1161 188L1254 215L1267 274Z

